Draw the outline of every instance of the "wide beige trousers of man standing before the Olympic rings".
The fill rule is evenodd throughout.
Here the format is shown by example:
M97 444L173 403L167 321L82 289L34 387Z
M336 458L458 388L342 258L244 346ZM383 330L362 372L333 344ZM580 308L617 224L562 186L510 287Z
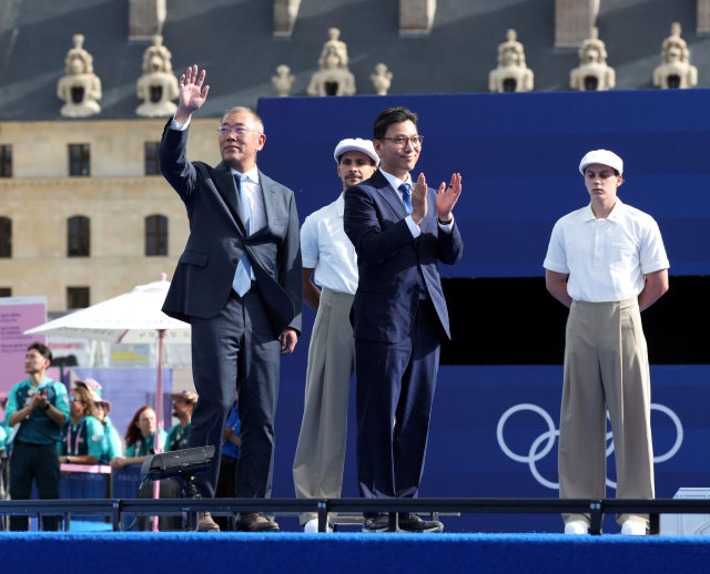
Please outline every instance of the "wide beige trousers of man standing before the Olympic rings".
M653 499L651 388L646 339L636 297L572 301L565 341L559 423L560 499L604 499L607 408L617 462L617 499ZM562 514L565 522L589 514ZM617 514L617 522L648 514Z

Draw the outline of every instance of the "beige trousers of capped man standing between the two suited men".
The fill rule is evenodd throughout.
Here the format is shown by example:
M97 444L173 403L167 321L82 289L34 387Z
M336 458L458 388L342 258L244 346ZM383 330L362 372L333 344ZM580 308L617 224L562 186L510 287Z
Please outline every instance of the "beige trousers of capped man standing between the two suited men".
M337 499L343 490L347 399L355 368L354 295L324 288L313 326L301 435L293 461L298 499ZM332 513L335 514L335 513ZM301 514L301 524L317 513Z

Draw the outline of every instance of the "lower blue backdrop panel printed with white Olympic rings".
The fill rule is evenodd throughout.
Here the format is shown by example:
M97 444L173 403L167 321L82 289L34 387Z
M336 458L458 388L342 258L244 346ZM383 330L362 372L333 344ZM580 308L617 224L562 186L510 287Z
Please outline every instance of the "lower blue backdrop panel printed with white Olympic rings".
M276 414L275 498L294 496L292 464L303 413L300 368L284 363ZM710 366L651 366L656 493L710 486ZM355 385L351 388L343 496L357 496ZM442 367L422 496L557 496L557 439L561 366ZM511 412L507 420L501 419ZM500 426L500 440L498 428ZM611 440L608 441L611 447ZM535 448L532 448L535 445ZM506 453L508 449L509 454ZM511 458L511 455L514 458ZM613 454L609 481L616 481ZM607 495L616 495L613 488ZM466 515L448 519L455 532L559 532L557 515ZM608 516L606 532L618 532Z

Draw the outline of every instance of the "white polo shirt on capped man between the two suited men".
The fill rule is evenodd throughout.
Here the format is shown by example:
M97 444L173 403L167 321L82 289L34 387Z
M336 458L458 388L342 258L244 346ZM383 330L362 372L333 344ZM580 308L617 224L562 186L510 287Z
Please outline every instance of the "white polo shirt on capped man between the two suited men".
M357 290L357 255L345 235L343 194L331 205L306 217L301 227L303 266L313 271L313 280L334 291L354 294Z

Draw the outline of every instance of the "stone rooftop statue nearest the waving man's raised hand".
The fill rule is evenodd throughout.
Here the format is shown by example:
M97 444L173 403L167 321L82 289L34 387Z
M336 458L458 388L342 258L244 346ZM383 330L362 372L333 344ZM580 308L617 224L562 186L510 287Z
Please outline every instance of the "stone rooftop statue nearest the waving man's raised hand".
M178 78L173 74L172 54L163 45L163 37L154 35L153 45L143 53L143 75L136 92L143 103L135 109L144 117L168 117L178 106L172 102L179 94Z

